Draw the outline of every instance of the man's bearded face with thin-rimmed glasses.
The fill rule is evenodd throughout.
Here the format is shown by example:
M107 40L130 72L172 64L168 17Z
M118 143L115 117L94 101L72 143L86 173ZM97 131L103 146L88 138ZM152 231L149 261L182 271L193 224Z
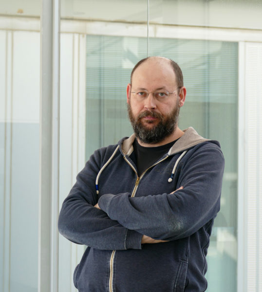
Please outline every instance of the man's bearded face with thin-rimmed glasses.
M128 113L136 137L146 144L155 144L170 136L178 122L179 89L175 73L167 60L149 59L133 73L128 97ZM139 98L131 92L173 92L163 100L152 93Z

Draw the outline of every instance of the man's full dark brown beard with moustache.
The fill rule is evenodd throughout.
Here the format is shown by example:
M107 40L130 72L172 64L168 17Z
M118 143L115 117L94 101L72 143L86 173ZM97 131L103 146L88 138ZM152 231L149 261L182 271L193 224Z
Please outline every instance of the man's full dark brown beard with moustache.
M134 133L140 141L146 144L159 143L165 138L169 137L174 132L178 123L179 110L179 101L177 101L176 107L166 117L158 112L146 110L141 112L135 118L133 116L130 103L128 103L128 115ZM153 128L147 128L142 123L142 118L148 115L159 119L158 124L155 125ZM150 121L148 121L148 124L150 124Z

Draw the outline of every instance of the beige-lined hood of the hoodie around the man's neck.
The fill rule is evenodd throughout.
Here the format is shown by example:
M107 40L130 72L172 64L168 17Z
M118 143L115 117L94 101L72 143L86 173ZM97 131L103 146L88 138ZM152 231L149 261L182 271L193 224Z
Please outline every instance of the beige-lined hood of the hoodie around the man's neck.
M189 148L196 146L197 144L210 141L209 139L205 139L202 136L200 136L197 131L189 127L185 130L183 130L185 133L183 136L181 136L174 145L169 149L168 155L174 155L176 153L188 150ZM135 139L135 134L132 134L129 138L123 138L119 141L120 151L123 155L130 155L133 151L133 142ZM219 146L219 143L217 141L212 141L215 144Z

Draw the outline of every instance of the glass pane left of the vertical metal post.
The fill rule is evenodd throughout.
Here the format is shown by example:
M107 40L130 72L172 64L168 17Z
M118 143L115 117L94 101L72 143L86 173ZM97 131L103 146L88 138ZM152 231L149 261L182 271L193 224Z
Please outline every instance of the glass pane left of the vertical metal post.
M36 18L22 18L19 16L22 11L17 16L3 14L14 11L15 14L17 9L28 12L26 7L31 7L37 15L40 1L34 1L32 6L30 3L8 1L1 5L0 25L4 27L0 27L0 291L3 292L37 291L40 19L37 22Z

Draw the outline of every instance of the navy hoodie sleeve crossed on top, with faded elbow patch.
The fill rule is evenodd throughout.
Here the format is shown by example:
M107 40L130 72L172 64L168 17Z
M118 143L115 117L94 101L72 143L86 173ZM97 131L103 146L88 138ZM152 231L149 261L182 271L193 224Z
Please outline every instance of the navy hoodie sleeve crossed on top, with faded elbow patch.
M187 237L213 219L220 209L224 157L218 146L206 143L192 153L181 169L173 194L106 194L99 207L128 229L155 239Z

